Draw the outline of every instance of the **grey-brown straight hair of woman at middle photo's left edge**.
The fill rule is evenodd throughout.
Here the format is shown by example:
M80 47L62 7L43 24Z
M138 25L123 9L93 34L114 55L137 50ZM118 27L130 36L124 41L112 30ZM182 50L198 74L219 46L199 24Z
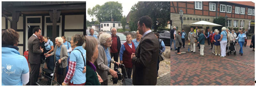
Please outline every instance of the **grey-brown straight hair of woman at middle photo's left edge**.
M86 36L86 41L86 62L89 62L92 61L92 56L95 52L95 49L98 49L96 46L98 46L99 40L92 36Z

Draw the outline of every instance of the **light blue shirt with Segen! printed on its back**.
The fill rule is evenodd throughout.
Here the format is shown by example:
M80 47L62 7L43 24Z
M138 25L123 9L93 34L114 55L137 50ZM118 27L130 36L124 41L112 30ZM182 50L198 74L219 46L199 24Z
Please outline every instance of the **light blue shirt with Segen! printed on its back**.
M21 74L28 72L27 59L19 51L2 47L2 85L23 85Z

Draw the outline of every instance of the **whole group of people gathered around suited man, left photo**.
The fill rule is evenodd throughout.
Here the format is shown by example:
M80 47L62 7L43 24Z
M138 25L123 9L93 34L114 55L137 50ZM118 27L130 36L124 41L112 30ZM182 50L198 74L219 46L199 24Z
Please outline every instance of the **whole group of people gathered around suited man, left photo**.
M2 71L5 71L2 73L2 78L5 78L2 85L37 85L40 66L45 58L48 70L54 71L56 66L59 84L85 85L86 36L75 34L70 43L65 36L57 37L54 46L49 37L41 36L41 29L35 27L28 39L28 61L18 51L19 37L13 29L2 31Z

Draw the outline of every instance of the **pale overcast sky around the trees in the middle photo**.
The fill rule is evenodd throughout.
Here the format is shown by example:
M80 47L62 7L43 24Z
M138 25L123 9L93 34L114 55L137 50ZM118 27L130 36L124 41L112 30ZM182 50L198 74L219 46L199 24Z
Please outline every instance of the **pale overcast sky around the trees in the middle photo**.
M133 0L126 0L126 1L118 1L119 3L122 3L123 6L123 16L127 16L127 14L130 12L132 5L137 3L138 1L133 1ZM86 1L86 19L89 21L92 21L91 19L94 18L94 20L97 20L96 17L90 17L87 14L88 8L93 8L96 4L103 5L105 2L95 2L94 0L91 1Z

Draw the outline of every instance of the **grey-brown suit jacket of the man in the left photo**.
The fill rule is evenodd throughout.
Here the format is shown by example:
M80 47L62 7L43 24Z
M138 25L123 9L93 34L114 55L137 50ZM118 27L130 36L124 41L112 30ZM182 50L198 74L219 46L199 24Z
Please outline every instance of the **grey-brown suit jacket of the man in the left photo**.
M40 64L40 54L42 51L40 50L38 38L32 35L28 39L28 62L30 64ZM42 47L43 48L43 47ZM45 49L44 49L45 50Z

